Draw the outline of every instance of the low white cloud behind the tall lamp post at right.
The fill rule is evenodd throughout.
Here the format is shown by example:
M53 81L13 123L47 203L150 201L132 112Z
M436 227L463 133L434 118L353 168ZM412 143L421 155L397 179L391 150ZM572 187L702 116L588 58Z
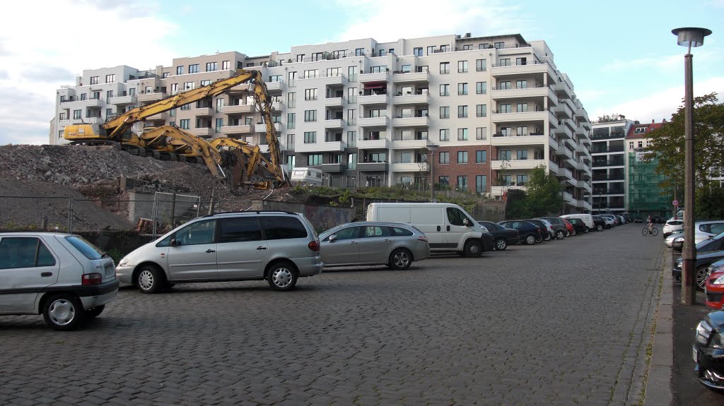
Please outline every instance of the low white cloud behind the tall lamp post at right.
M694 97L716 92L719 103L724 99L724 77L712 77L699 82L694 82ZM630 118L638 120L641 123L669 120L673 113L676 113L679 106L683 104L684 88L683 85L678 87L670 87L660 92L652 93L644 98L628 100L610 108L597 109L589 117L595 120L599 116L610 113L620 113Z

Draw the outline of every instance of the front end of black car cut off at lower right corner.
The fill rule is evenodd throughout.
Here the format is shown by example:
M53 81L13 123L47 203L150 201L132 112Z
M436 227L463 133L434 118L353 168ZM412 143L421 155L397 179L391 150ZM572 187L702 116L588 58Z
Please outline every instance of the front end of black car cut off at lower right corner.
M692 355L699 382L717 392L724 391L724 311L712 311L699 321Z

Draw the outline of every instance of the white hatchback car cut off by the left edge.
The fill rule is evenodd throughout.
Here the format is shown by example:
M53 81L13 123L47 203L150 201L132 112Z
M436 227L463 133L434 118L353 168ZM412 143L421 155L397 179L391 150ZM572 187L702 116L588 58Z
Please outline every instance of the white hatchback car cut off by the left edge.
M43 314L72 330L118 293L113 259L81 236L0 233L0 314Z

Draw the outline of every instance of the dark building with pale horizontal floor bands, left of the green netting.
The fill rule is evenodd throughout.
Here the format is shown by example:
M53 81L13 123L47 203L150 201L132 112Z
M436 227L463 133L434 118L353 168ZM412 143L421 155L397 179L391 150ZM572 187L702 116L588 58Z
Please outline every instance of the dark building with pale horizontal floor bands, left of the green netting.
M633 124L631 120L593 124L593 214L626 211L625 139Z

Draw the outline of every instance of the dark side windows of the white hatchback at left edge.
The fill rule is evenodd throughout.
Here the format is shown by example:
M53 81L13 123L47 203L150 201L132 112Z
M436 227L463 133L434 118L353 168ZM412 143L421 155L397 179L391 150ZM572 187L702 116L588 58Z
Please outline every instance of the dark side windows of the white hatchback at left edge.
M55 258L39 238L5 237L0 241L0 269L53 267Z

